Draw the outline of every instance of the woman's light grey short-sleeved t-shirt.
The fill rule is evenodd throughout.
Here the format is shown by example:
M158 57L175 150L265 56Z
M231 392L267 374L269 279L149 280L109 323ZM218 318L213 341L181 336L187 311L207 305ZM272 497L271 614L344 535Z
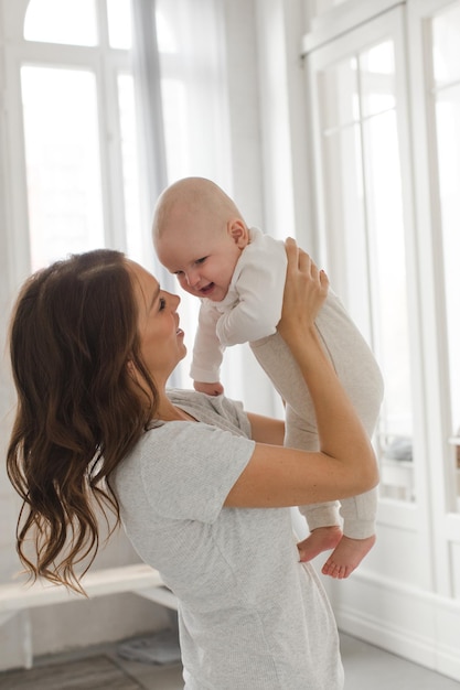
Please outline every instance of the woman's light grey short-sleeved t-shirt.
M126 532L179 600L186 690L340 690L335 622L288 508L225 508L254 452L240 403L170 391L114 473Z

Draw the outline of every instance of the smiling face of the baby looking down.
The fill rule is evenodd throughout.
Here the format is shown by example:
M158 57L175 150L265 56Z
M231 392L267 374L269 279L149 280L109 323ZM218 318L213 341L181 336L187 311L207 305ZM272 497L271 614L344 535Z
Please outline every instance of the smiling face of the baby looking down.
M228 292L246 240L206 218L171 218L156 249L161 263L178 277L181 288L197 298L221 302Z

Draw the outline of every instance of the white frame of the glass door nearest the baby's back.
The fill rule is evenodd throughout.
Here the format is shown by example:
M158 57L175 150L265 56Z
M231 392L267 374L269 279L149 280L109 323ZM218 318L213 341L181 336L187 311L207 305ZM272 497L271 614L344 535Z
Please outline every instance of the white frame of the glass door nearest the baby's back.
M350 3L344 3L344 6ZM351 3L357 8L356 3ZM363 4L363 3L361 3ZM366 3L366 19L372 15L372 2ZM407 280L407 299L410 308L408 309L409 320L409 348L410 348L410 397L414 419L414 438L413 438L413 483L415 488L415 503L405 500L393 500L391 498L381 498L378 509L378 521L391 528L398 528L408 532L419 533L422 540L420 551L420 568L424 573L424 584L431 586L434 582L434 571L431 559L429 556L429 536L430 536L430 517L431 517L431 498L429 493L429 456L426 451L426 411L424 407L425 387L422 378L422 341L420 334L420 315L421 304L418 294L418 263L417 263L417 237L414 223L413 206L413 160L411 160L411 139L409 128L409 107L408 107L408 86L407 86L407 64L405 54L405 8L402 3L397 7L393 2L377 1L374 9L382 10L382 6L391 6L387 11L383 11L374 19L365 21L364 24L355 29L349 29L344 32L339 31L338 36L321 35L317 41L304 41L304 47L308 47L306 57L308 64L308 86L309 98L311 99L312 114L312 141L313 141L313 160L314 160L314 184L315 184L315 209L317 209L317 228L320 237L321 262L327 266L330 273L332 284L341 297L344 295L346 305L346 267L343 266L340 249L334 255L333 242L335 238L329 237L327 220L324 215L325 207L325 190L323 187L323 170L322 170L322 152L321 152L321 134L320 134L320 103L318 91L314 88L317 74L328 65L344 60L359 51L365 50L367 46L374 45L386 39L392 39L395 50L395 85L396 85L396 116L398 126L398 143L400 159L400 176L403 184L403 211L405 227L405 246L406 246L406 280ZM385 9L385 8L384 8ZM357 9L356 9L357 12ZM362 10L364 12L364 10ZM353 17L353 12L351 14ZM356 17L356 14L354 14ZM332 240L332 241L331 241ZM391 267L388 267L391 270ZM378 314L374 314L374 319L378 319Z

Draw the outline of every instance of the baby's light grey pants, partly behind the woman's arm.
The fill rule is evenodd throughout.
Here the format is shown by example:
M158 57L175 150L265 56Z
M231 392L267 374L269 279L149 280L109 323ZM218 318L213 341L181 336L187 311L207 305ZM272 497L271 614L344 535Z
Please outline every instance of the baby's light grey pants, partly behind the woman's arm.
M367 343L331 290L315 325L324 351L370 438L374 432L383 398L382 374ZM289 347L277 333L250 343L258 363L286 403L285 445L306 451L319 450L314 408L308 387ZM336 502L299 506L310 531L340 525ZM365 539L375 533L377 489L340 502L343 533Z

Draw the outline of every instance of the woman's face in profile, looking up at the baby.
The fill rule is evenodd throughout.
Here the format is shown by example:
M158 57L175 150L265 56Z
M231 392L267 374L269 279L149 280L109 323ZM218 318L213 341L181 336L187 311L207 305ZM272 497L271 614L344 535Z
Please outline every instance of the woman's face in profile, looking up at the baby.
M129 261L143 362L157 386L165 386L178 363L185 357L184 332L176 312L180 298L160 289L158 280L141 266Z

